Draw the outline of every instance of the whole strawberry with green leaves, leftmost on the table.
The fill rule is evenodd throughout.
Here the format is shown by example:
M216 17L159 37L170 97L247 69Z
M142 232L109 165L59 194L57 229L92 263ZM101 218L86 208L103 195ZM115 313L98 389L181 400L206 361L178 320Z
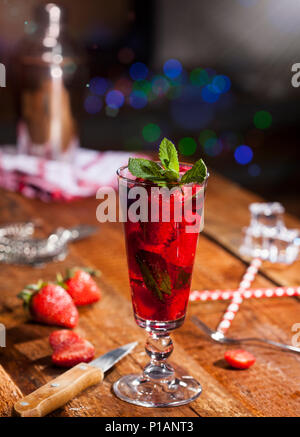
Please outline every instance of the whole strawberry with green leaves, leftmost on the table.
M77 308L60 285L40 281L28 285L18 297L23 299L24 306L37 322L65 328L74 328L77 325Z

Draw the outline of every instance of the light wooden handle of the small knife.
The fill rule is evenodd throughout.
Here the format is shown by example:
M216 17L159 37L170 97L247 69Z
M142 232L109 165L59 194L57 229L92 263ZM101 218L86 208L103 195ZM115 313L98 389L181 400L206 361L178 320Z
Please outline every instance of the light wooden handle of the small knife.
M101 369L85 363L77 366L20 399L14 409L22 417L43 417L62 407L82 390L103 380Z

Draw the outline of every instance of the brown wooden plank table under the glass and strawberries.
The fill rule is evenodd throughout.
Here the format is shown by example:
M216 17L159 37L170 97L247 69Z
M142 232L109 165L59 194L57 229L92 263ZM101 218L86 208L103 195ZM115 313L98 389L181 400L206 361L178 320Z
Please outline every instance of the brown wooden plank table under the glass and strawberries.
M1 191L1 221L41 218L46 234L56 226L97 223L99 201L86 199L69 204L45 204ZM205 229L200 236L192 289L237 287L247 263L238 253L241 228L248 224L248 205L259 201L220 176L209 180ZM288 226L300 222L287 216ZM80 309L77 331L93 342L100 355L119 345L139 340L134 352L119 362L100 386L86 390L53 416L300 416L300 356L248 345L257 357L247 371L232 370L223 361L225 346L212 343L191 322L198 315L216 327L227 302L191 303L182 328L173 333L171 361L180 372L197 378L202 395L176 408L147 409L117 399L112 383L121 375L139 372L147 361L145 333L134 322L130 303L124 238L120 224L99 224L92 238L72 245L62 263L43 268L0 265L0 321L7 329L7 347L0 348L0 415L12 414L13 403L61 370L51 365L48 336L53 327L27 321L17 293L39 278L51 280L66 267L86 265L100 269L101 302ZM300 261L291 266L265 263L254 286L300 285ZM297 298L252 299L242 304L230 329L232 335L257 335L291 343L293 324L300 322Z

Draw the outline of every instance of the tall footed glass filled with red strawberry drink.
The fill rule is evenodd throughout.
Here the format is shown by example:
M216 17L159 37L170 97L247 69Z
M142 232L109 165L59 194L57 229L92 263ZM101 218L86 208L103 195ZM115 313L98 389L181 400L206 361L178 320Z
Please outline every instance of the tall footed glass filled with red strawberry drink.
M181 164L181 173L191 168ZM203 228L206 180L202 184L158 187L118 170L132 305L136 323L148 331L150 358L140 375L114 384L124 401L144 407L183 405L202 389L191 376L177 376L167 361L170 331L184 322L198 235Z

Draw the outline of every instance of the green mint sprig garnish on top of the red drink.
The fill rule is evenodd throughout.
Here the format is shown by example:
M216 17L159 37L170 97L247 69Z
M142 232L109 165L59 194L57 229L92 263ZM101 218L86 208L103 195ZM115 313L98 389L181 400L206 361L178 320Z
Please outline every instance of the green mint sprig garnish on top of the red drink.
M207 177L207 168L202 159L180 179L178 153L174 144L164 138L159 146L161 165L149 159L129 158L128 169L133 176L156 183L162 187L189 183L201 184Z

